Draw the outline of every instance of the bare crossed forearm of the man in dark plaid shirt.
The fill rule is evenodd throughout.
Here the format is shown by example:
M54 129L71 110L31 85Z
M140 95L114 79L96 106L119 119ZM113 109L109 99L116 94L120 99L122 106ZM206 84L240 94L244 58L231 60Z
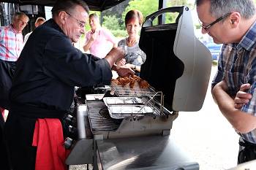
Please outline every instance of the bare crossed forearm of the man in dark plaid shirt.
M227 84L225 80L217 83L212 89L214 100L227 118L233 128L241 134L246 134L256 128L256 117L249 113L242 112L240 109L235 108L234 99L227 93Z

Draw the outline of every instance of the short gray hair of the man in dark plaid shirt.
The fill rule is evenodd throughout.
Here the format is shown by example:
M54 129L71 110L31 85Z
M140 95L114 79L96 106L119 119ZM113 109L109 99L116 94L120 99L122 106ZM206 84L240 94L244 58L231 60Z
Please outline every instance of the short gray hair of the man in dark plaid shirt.
M252 0L196 0L196 6L204 1L210 1L210 13L215 18L222 17L228 12L239 12L241 17L249 19L255 15L255 4Z

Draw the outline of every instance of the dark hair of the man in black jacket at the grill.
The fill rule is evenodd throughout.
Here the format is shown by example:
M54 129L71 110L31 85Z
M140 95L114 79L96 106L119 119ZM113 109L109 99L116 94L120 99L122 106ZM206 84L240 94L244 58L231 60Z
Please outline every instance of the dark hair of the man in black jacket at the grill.
M61 11L72 12L72 9L77 5L80 5L87 13L89 13L89 7L83 0L57 0L53 5L53 9L51 9L51 12L53 17L55 17L56 15L59 15L59 12Z

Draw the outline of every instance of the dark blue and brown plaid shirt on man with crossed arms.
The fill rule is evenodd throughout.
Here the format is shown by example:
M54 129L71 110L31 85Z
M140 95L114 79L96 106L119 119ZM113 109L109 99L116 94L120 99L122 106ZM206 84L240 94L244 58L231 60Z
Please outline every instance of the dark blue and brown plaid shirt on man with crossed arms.
M225 79L228 93L236 96L242 84L250 83L252 88L247 92L252 94L252 99L241 111L256 116L256 23L249 28L241 42L222 46L218 62L212 87ZM248 142L256 143L256 129L241 136Z

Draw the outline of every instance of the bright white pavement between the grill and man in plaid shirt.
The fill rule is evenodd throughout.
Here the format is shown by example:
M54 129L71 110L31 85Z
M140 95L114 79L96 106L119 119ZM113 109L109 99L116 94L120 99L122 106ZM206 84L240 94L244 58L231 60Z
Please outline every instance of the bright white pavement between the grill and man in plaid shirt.
M213 66L211 80L216 70L217 66ZM200 164L200 170L222 170L236 166L238 135L214 104L210 89L199 112L179 113L171 135ZM72 166L70 169L81 170L86 166Z

